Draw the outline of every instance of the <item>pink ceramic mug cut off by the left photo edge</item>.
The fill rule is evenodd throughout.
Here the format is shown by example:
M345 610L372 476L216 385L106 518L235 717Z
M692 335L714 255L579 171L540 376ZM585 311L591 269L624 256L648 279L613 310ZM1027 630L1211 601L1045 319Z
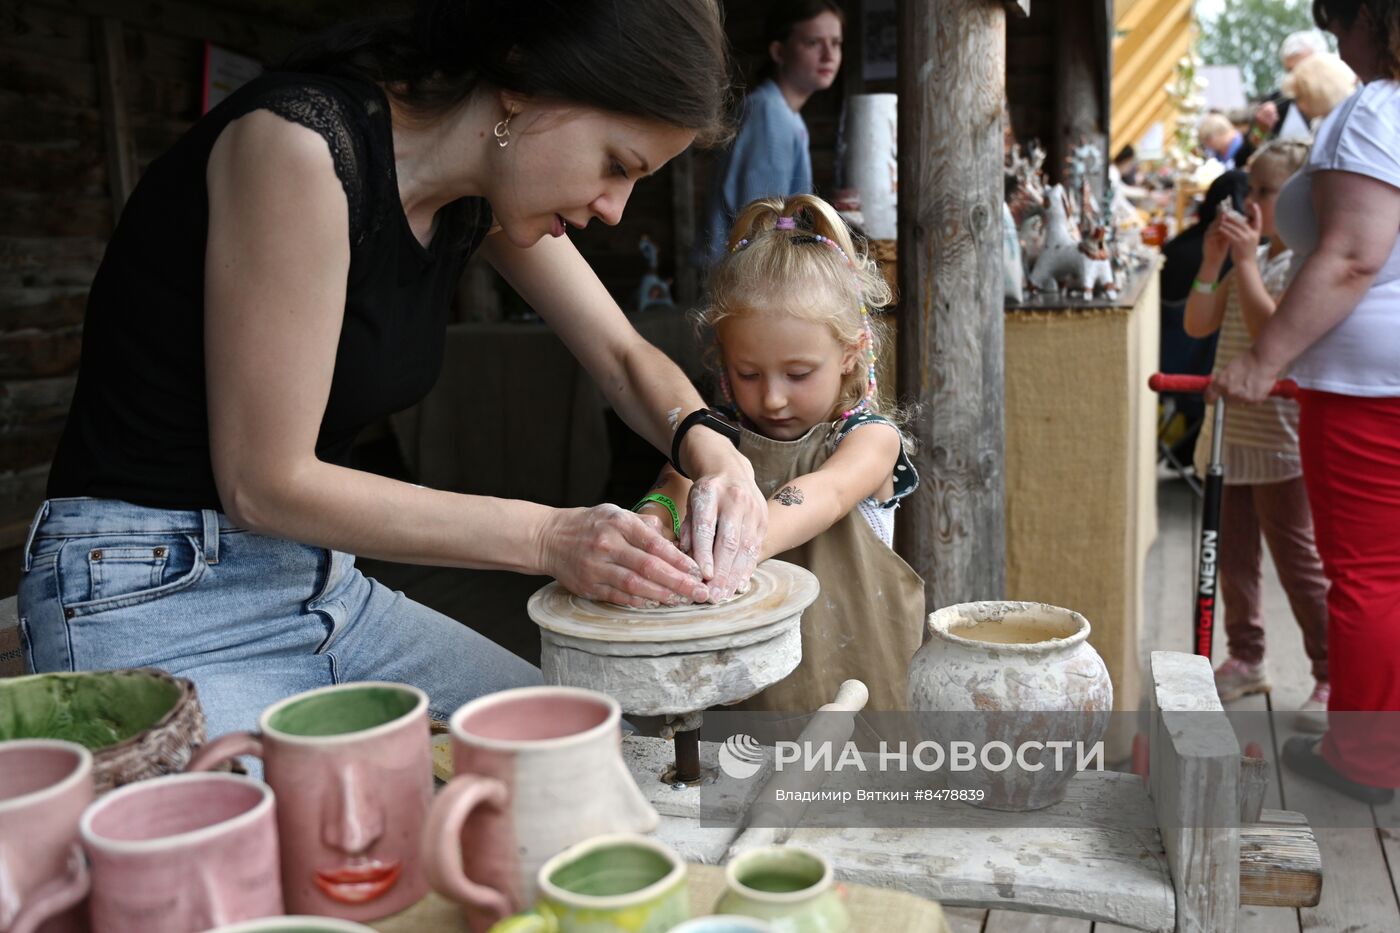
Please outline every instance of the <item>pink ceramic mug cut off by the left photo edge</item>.
M78 820L92 803L92 754L52 738L0 742L0 933L84 929Z

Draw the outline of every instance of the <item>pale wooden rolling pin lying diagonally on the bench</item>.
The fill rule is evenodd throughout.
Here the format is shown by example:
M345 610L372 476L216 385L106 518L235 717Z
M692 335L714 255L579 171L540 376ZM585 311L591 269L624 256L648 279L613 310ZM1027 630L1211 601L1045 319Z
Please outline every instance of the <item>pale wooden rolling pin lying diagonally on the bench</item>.
M820 745L830 742L833 749L840 749L850 741L855 731L855 714L865 709L871 692L861 681L844 681L836 691L836 699L822 706L806 724L797 741L799 745ZM774 845L785 842L792 834L792 828L801 822L806 811L805 803L778 803L778 793L811 793L820 790L826 782L826 773L820 770L776 770L763 785L763 790L755 797L756 803L748 811L746 828L735 838L725 856L731 857L752 849L753 846ZM757 824L757 825L756 825ZM764 825L770 824L770 825ZM781 824L781 825L773 825Z

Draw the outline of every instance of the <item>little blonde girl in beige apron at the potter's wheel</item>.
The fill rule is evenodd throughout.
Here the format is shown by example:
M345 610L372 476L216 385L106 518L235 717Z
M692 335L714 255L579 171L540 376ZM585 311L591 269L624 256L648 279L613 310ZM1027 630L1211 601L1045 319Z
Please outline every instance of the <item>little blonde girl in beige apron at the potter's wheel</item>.
M750 709L809 712L858 678L871 709L903 709L918 649L924 584L892 549L895 510L918 485L875 378L889 287L840 216L811 195L763 199L739 212L728 254L697 312L718 350L739 451L769 499L759 559L812 570L822 595L802 615L802 661ZM658 492L686 502L666 468ZM671 506L638 504L664 528ZM682 527L685 548L689 528ZM714 591L715 587L711 587ZM718 587L727 595L727 587Z

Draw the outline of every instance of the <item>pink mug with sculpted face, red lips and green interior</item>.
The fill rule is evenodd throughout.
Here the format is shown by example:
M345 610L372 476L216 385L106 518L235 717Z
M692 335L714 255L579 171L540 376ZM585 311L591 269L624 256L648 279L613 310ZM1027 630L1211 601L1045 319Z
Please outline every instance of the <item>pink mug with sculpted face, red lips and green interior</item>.
M308 691L269 706L258 733L204 745L189 768L260 756L277 792L287 909L375 920L428 890L419 866L433 801L427 709L427 693L405 684Z

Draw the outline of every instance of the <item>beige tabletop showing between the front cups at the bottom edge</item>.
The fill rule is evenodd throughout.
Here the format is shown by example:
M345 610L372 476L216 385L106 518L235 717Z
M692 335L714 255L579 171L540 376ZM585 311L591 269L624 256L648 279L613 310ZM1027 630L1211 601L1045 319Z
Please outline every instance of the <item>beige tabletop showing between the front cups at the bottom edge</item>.
M724 869L692 864L690 909L708 913L724 892ZM844 885L851 912L851 933L949 933L942 908L903 891L882 891L862 884ZM379 933L468 933L462 912L451 901L428 894L402 913L371 923Z

